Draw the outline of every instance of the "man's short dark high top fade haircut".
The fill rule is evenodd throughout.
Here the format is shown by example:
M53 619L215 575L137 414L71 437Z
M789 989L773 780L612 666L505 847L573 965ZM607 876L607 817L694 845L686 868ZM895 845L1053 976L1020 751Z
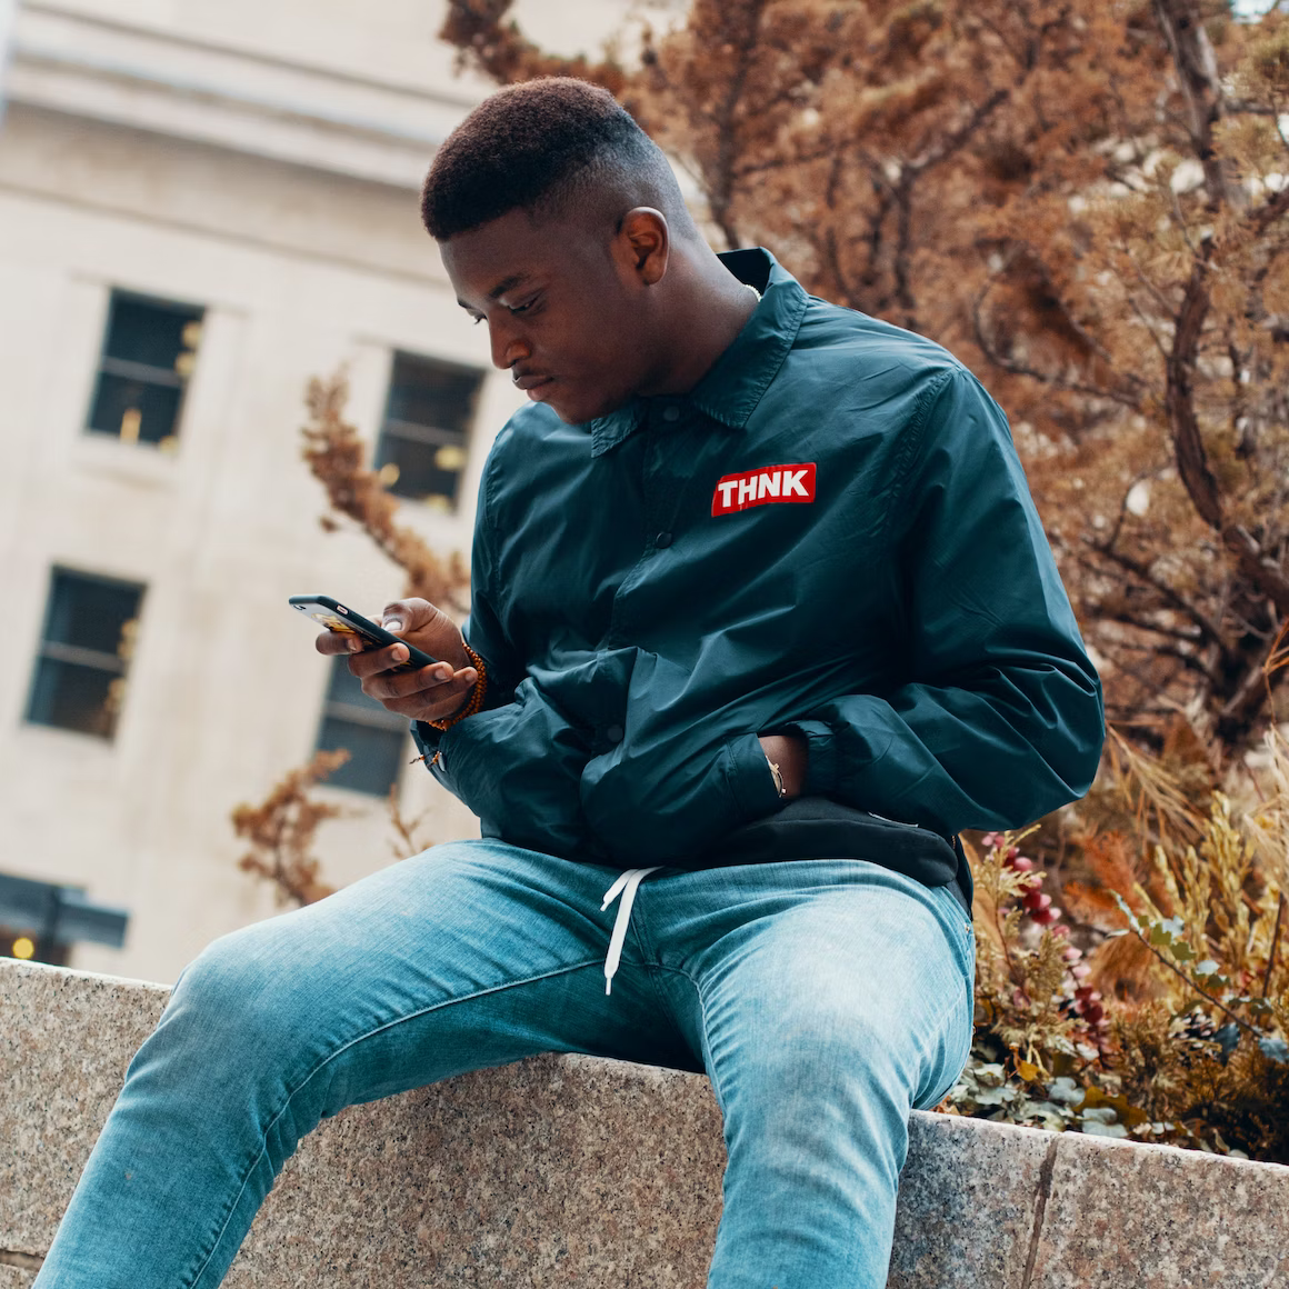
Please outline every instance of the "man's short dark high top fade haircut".
M550 76L492 94L452 130L420 214L431 237L447 241L512 210L620 220L634 206L660 210L675 236L697 236L661 148L614 95Z

